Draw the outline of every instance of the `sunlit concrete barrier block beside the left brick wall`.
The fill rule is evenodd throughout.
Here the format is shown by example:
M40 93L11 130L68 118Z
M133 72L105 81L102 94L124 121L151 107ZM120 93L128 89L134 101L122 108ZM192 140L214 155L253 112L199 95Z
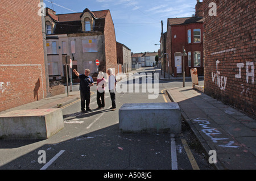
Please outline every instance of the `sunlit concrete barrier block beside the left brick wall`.
M63 128L60 109L18 110L0 115L0 138L46 139Z

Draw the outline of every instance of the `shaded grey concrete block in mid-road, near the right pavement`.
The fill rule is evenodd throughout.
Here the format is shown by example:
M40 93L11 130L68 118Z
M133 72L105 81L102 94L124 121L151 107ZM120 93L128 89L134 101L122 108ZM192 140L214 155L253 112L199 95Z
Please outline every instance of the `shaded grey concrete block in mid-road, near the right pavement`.
M123 104L119 109L119 129L121 132L181 133L179 104Z

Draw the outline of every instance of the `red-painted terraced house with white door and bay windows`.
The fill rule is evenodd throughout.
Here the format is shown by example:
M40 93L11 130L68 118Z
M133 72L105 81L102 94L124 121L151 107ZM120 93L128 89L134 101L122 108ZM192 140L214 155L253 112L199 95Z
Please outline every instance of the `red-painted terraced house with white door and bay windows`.
M192 68L196 68L199 75L204 75L203 2L197 0L195 10L191 17L168 18L167 21L166 71L175 77L182 74L183 66L185 76L190 76ZM184 65L183 47L187 53Z

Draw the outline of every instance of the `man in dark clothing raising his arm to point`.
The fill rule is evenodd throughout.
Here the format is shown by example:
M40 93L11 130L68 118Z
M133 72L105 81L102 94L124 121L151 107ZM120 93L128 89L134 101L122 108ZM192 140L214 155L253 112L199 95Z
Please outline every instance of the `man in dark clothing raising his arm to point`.
M73 70L77 77L80 78L80 97L81 97L81 111L92 111L90 110L90 87L94 85L93 78L89 76L90 70L85 69L84 74L79 74L76 70ZM85 105L86 102L86 105ZM86 111L85 111L86 106Z

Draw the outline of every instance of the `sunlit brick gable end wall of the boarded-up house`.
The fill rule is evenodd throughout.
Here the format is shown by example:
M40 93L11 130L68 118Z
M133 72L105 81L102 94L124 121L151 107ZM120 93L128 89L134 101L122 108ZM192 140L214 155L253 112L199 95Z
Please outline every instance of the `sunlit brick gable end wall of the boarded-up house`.
M115 40L115 28L110 11L105 19L105 52L106 52L106 70L112 68L117 74L117 45ZM105 71L106 72L106 71Z

